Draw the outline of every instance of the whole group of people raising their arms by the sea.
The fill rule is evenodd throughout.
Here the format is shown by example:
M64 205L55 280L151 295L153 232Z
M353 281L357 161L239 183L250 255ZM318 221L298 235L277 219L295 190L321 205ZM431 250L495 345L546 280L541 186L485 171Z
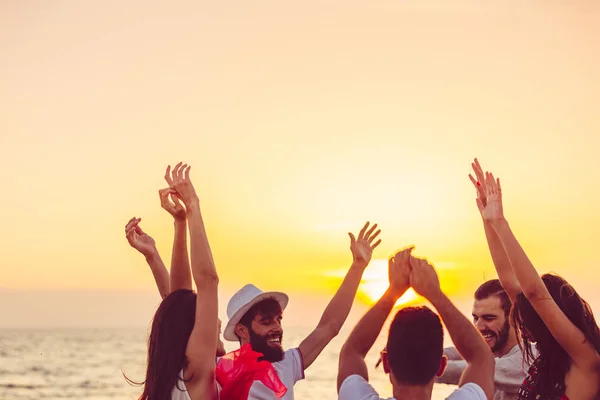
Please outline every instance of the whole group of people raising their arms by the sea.
M515 238L502 210L500 180L477 160L469 175L499 279L475 292L473 323L440 289L435 268L405 248L389 259L389 287L352 330L339 354L340 400L378 400L365 356L409 289L435 308L404 307L393 317L381 352L393 399L431 399L437 383L457 384L452 400L598 400L600 330L590 306L563 278L540 276ZM190 167L167 168L161 205L174 218L170 272L154 243L132 218L132 247L146 258L163 300L152 321L148 366L140 400L294 398L294 384L343 326L373 249L377 225L350 234L352 264L316 328L298 348L282 345L288 296L240 289L227 305L226 354L220 340L219 278ZM190 235L188 258L187 232ZM191 261L191 262L190 262ZM192 282L196 286L193 291ZM455 347L444 348L444 329Z

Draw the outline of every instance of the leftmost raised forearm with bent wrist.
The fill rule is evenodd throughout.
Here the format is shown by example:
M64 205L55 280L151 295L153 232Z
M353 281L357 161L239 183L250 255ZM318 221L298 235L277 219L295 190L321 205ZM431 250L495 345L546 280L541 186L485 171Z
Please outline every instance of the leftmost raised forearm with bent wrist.
M140 228L139 223L141 220L141 218L136 217L133 217L129 220L125 226L125 237L127 238L127 241L131 247L142 253L142 255L146 258L146 262L150 266L150 270L154 276L154 281L156 282L158 292L164 299L170 293L169 272L160 258L160 254L158 254L154 239L152 239L150 235L145 233L142 228Z

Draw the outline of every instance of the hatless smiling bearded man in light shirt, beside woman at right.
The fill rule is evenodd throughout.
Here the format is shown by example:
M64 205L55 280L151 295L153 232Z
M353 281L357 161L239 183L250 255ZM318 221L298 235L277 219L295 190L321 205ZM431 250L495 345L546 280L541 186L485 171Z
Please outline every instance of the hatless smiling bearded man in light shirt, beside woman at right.
M528 366L524 367L523 353L510 324L510 298L498 279L483 283L474 297L473 324L496 359L494 400L516 399ZM437 382L456 385L467 363L454 347L445 348L444 354L448 357L448 366Z

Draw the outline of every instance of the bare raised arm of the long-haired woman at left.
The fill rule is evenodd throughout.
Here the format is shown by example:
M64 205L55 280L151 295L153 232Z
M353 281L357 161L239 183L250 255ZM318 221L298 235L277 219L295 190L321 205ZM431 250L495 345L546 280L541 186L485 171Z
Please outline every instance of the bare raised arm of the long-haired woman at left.
M192 276L196 283L196 319L188 340L186 358L192 382L197 382L202 393L214 390L215 354L218 339L219 278L204 229L200 201L189 178L190 167L174 168L173 186L184 202L190 230ZM212 394L212 392L210 392ZM200 396L200 398L210 398Z

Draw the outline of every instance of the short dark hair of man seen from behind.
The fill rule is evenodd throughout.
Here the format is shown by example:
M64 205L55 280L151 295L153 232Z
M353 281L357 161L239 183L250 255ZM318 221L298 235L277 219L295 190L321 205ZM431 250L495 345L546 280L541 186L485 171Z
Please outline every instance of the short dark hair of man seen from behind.
M398 311L387 342L388 364L397 381L426 385L437 374L444 351L440 317L427 307Z

